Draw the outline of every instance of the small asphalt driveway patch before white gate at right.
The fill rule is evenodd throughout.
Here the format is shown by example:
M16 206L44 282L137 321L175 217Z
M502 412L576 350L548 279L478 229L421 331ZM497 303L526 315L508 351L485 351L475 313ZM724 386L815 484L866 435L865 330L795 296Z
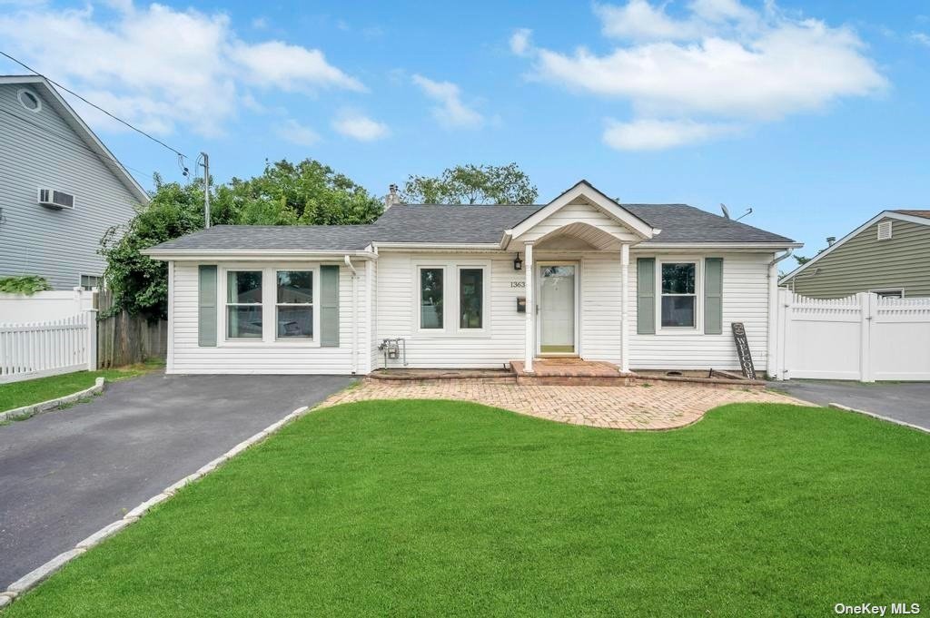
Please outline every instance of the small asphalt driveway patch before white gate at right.
M930 430L930 382L786 380L770 382L769 386L804 401L840 403Z

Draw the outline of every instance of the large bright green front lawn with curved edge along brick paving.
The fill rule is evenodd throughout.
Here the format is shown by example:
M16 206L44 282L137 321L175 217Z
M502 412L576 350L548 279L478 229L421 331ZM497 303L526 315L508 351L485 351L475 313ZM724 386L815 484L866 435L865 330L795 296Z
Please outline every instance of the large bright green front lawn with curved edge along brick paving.
M4 618L923 609L928 462L923 433L787 405L623 433L349 404L181 491Z

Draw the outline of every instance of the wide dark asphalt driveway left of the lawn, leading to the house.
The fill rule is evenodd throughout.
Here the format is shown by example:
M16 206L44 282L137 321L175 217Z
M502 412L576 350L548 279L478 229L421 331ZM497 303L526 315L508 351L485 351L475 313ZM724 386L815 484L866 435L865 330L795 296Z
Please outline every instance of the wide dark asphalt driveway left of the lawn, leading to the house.
M144 375L0 427L0 590L301 405L336 375Z

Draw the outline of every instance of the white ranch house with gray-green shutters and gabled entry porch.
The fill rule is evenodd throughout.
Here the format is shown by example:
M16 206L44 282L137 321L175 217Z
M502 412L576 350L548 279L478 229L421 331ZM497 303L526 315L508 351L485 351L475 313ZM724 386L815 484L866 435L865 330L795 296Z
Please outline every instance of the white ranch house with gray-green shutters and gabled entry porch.
M217 226L150 249L168 262L168 373L364 375L389 338L405 345L390 368L737 369L731 322L774 366L776 260L800 243L583 180L542 205L389 205L371 225Z

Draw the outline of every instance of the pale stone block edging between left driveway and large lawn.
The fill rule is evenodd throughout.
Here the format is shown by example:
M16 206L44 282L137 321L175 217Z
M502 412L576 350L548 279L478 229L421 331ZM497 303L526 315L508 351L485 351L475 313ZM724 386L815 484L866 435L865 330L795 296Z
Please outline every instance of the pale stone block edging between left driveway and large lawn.
M102 380L102 378L98 378L98 379ZM86 391L82 391L82 392L86 392ZM69 397L73 397L73 395L69 395ZM20 577L20 579L10 584L7 587L7 590L5 590L4 592L0 592L0 608L6 607L10 603L12 603L14 599L19 597L23 593L28 592L29 590L34 588L36 585L39 585L42 582L44 582L46 579L48 579L48 577L50 577L55 572L59 571L60 568L63 567L65 564L67 564L69 561L77 558L78 556L86 552L91 547L100 545L100 543L102 543L104 540L106 540L110 536L113 536L113 534L118 533L119 531L123 530L129 524L135 521L139 521L139 519L143 515L145 515L145 513L150 508L170 499L172 496L174 496L175 493L178 493L179 489L181 489L185 485L192 483L194 480L199 480L203 478L204 476L206 476L213 470L217 469L223 463L231 459L233 456L242 453L247 448L255 444L258 444L260 441L265 440L266 438L271 436L273 433L280 430L281 427L286 426L291 421L299 418L300 416L304 414L307 414L309 411L310 409L307 406L299 407L294 412L287 414L280 421L276 423L272 423L272 425L265 427L264 429L259 431L259 433L255 434L251 438L248 438L236 444L235 446L233 446L232 449L230 449L224 454L219 455L219 457L207 463L206 465L201 467L199 470L197 470L193 474L188 475L184 477L183 479L175 483L172 483L171 485L168 485L162 491L162 493L154 495L152 498L149 498L148 500L146 500L139 506L136 506L131 511L126 513L126 516L124 516L123 519L117 519L116 521L113 521L113 523L107 526L104 526L96 533L91 534L86 539L78 543L76 546L74 546L73 549L70 549L64 553L59 554L55 558L48 560L45 564L35 569L33 572L29 572L23 575L22 577Z

